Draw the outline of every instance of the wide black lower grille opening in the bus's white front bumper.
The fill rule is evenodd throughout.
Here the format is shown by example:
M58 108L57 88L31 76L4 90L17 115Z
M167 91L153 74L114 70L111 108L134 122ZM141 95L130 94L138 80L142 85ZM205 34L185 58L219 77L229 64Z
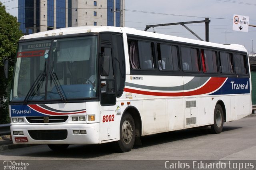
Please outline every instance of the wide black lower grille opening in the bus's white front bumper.
M34 140L64 140L68 136L68 130L28 130Z

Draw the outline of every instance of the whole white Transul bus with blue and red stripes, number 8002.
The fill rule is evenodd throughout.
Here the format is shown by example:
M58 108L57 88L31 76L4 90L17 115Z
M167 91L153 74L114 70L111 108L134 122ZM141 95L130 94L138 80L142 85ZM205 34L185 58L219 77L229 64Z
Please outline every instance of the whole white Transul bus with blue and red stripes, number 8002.
M244 46L132 28L73 27L20 38L10 98L14 144L116 142L252 112Z

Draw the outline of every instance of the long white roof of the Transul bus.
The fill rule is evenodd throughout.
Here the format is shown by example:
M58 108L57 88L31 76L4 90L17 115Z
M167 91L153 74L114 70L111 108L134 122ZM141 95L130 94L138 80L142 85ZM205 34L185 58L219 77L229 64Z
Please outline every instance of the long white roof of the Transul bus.
M189 38L182 38L177 36L170 36L165 34L158 34L152 32L145 32L141 30L136 30L134 28L120 28L120 27L112 27L112 26L81 26L81 27L68 27L68 28L60 28L56 30L49 30L45 32L38 32L35 34L29 34L26 36L22 36L20 40L31 39L31 38L43 38L43 37L50 37L50 36L59 36L59 35L70 35L70 34L82 34L87 32L118 32L124 34L132 34L137 36L145 36L151 38L158 38L163 40L171 40L176 42L184 42L184 43L192 43L196 45L205 45L210 47L218 47L224 49L232 49L238 51L247 52L246 48L243 45L238 44L219 44L219 43L212 43L212 42L204 42L200 40L194 40Z

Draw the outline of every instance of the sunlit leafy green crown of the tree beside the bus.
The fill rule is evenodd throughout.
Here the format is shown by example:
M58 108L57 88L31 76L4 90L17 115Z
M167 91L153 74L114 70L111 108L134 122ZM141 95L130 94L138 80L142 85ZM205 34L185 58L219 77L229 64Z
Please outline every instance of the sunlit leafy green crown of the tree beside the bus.
M15 57L17 43L22 36L19 27L17 18L6 12L5 6L0 2L0 68L3 66L3 57ZM12 64L10 62L10 66Z

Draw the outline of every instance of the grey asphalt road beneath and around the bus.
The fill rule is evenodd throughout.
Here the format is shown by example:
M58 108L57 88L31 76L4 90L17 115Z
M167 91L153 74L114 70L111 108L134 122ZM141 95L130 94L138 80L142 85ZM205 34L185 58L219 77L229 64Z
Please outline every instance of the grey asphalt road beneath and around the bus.
M166 169L168 160L256 160L256 117L224 123L220 134L193 128L144 136L141 146L126 153L115 152L112 144L71 145L63 152L37 145L2 151L0 160L20 162L17 166L29 162L28 170Z

